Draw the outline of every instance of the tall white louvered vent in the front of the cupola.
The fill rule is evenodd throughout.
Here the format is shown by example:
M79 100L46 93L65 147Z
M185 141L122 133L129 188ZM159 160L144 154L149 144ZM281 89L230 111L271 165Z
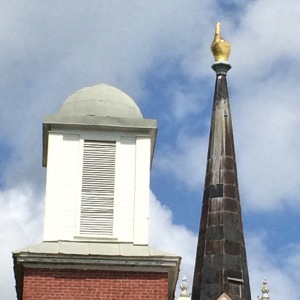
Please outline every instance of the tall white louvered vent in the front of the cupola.
M115 157L115 142L84 141L80 234L113 234Z

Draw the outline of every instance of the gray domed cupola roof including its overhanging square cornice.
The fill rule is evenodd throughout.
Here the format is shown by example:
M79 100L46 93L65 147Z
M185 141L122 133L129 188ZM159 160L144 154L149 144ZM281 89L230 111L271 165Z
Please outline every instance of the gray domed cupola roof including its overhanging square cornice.
M157 134L157 121L144 119L139 107L124 92L107 84L85 87L70 95L54 115L43 122L43 166L47 166L48 135L65 129L127 132L150 136L151 161Z

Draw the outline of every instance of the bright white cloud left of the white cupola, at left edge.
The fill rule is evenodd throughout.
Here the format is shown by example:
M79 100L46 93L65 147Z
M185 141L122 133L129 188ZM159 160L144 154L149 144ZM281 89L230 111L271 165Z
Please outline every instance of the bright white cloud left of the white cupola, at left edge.
M16 299L12 252L40 242L43 204L29 187L0 192L1 299Z

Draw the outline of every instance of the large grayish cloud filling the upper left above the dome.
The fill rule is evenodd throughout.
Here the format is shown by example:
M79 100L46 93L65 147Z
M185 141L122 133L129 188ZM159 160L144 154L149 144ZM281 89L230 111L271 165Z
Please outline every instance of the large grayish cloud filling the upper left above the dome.
M18 164L2 174L10 186L17 169L18 183L26 178L41 186L40 151L33 145L41 145L43 115L55 112L72 92L98 82L139 101L148 68L190 57L186 54L208 38L211 5L190 1L182 6L174 0L7 3L0 20L0 134Z

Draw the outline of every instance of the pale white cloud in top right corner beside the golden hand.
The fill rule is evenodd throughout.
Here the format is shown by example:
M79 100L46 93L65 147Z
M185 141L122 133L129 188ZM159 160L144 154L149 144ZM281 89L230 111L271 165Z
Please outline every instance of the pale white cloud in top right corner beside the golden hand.
M281 56L299 59L300 43L295 39L299 10L299 3L292 0L252 1L248 5L231 38L231 59L239 73L245 71L245 77L251 79L270 72Z

